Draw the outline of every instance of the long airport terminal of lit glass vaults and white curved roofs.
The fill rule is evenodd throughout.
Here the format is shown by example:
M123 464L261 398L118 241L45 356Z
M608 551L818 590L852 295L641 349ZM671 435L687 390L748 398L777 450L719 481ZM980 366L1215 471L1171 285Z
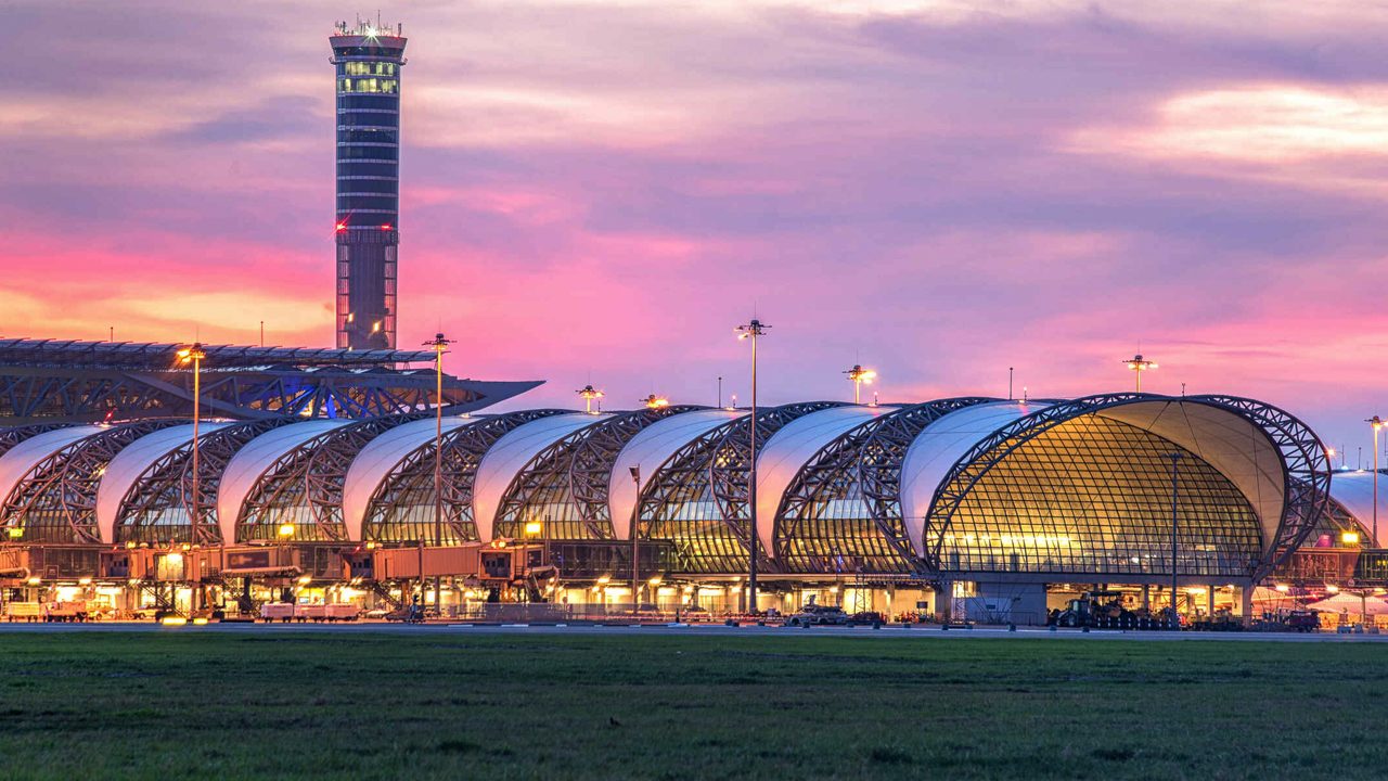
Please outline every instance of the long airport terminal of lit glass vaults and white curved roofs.
M441 428L419 406L222 410L196 475L176 411L28 418L0 431L0 577L208 605L398 602L423 575L423 599L454 610L630 605L634 582L643 605L743 611L755 534L761 610L966 599L1034 621L1094 588L1169 603L1173 564L1183 611L1246 611L1298 550L1371 543L1363 491L1334 499L1323 443L1251 399L763 407L752 500L750 410L483 411L527 386L476 385Z

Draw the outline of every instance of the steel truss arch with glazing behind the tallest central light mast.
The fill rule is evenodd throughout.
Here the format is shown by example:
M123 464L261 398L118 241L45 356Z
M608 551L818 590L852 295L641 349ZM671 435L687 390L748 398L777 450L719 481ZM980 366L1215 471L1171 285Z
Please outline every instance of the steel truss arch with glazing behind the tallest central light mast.
M758 452L787 422L841 406L844 402L805 402L758 410ZM747 567L751 425L751 416L744 416L688 442L654 470L641 489L633 531L645 539L672 541L682 571L740 573ZM780 566L762 552L758 570L777 573Z

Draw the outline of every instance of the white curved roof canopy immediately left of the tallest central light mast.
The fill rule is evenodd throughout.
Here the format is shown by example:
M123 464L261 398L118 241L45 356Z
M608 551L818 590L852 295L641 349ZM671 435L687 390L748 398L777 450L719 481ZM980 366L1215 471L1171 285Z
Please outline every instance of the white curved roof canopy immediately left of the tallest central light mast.
M747 413L691 410L661 418L637 432L618 453L612 475L608 478L608 511L612 516L612 532L616 538L632 538L632 514L637 502L632 467L641 468L643 488L651 485L655 471L670 460L676 450L740 417L747 417Z

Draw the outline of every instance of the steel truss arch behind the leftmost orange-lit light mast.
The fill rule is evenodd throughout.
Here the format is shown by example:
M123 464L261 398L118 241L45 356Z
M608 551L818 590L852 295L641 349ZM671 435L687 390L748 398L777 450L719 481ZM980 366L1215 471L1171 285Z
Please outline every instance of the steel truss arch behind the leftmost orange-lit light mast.
M115 542L221 545L223 541L217 523L217 489L226 463L251 439L297 421L298 418L257 420L200 434L197 517L192 511L192 442L164 453L140 472L121 498L114 528Z

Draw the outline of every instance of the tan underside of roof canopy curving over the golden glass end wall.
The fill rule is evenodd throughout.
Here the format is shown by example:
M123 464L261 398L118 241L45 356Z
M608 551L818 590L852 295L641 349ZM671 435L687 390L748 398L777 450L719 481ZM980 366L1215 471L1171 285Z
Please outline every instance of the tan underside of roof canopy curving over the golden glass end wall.
M1219 470L1253 506L1263 529L1263 550L1276 543L1287 474L1281 452L1260 427L1198 400L1135 402L1098 414L1170 439Z

